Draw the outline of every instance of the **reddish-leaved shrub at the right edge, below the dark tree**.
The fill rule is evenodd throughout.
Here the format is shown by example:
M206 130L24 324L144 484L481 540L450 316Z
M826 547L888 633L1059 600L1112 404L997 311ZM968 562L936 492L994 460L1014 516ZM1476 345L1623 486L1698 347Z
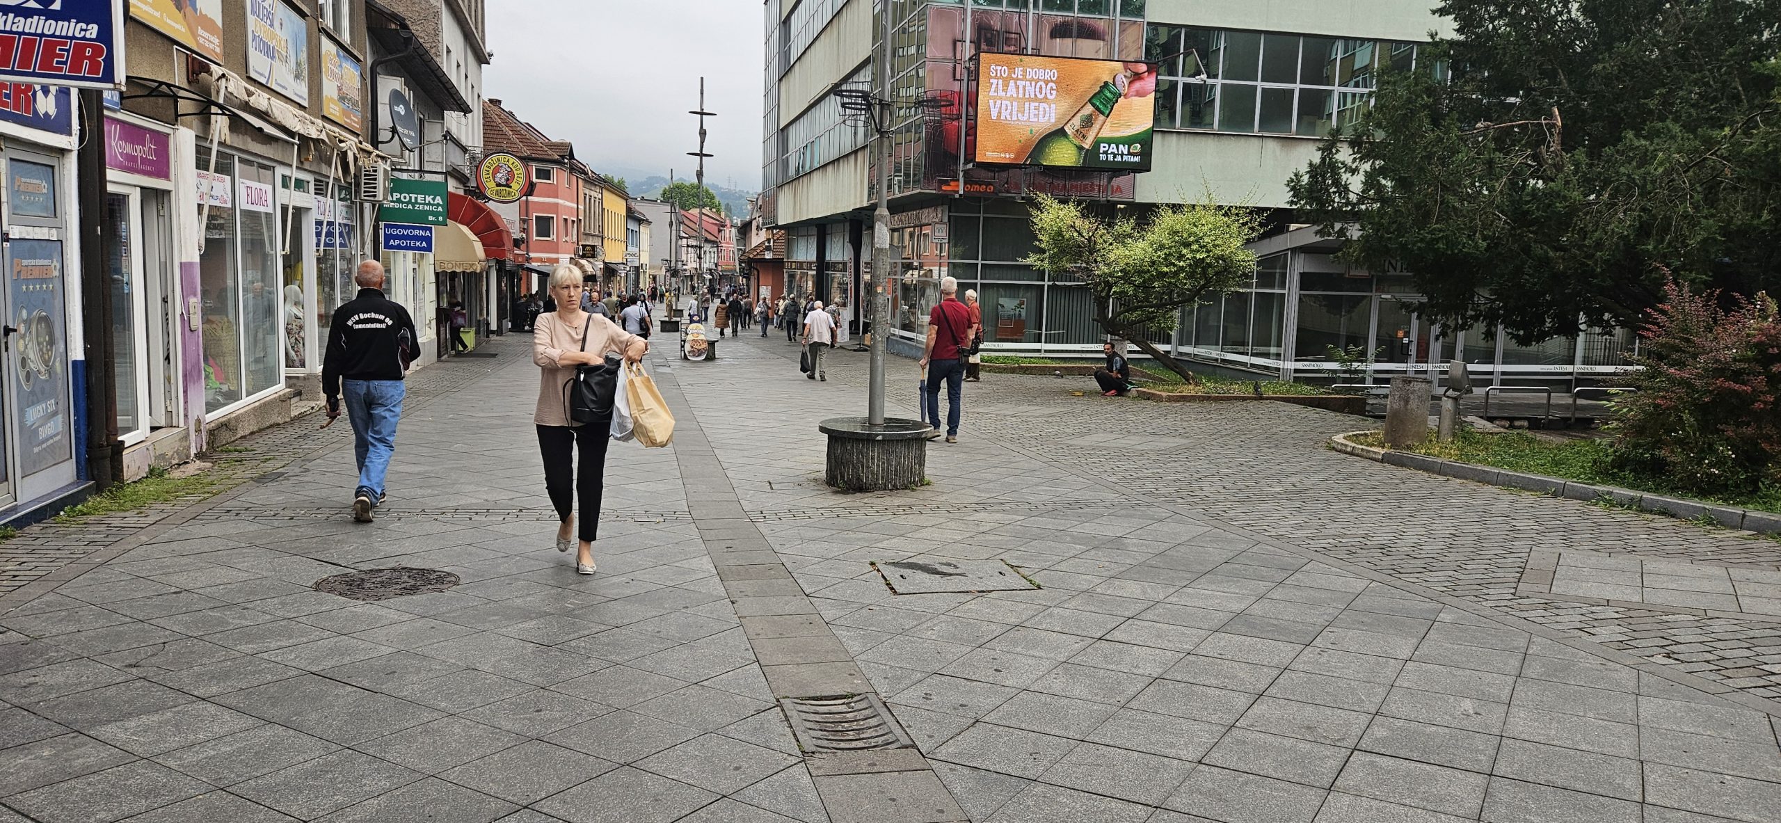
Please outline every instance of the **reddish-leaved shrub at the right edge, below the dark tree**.
M1781 314L1767 294L1694 294L1671 281L1640 328L1615 399L1615 469L1708 495L1781 486Z

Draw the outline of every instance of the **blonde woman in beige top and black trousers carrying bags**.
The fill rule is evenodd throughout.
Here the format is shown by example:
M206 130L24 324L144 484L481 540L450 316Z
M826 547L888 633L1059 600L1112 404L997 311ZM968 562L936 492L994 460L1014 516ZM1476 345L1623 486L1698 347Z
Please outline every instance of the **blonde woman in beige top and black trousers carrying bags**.
M550 271L554 314L538 317L533 330L533 362L538 363L538 406L533 424L538 426L538 452L545 461L545 490L557 511L556 547L575 550L575 572L593 574L593 540L600 526L600 492L606 485L606 444L613 442L613 420L573 424L568 419L565 387L575 379L577 365L597 365L607 353L622 353L627 362L641 362L648 340L632 335L604 315L581 310L581 269L557 265ZM575 467L575 454L581 467ZM581 501L581 524L575 524L575 502ZM579 540L579 545L577 545Z

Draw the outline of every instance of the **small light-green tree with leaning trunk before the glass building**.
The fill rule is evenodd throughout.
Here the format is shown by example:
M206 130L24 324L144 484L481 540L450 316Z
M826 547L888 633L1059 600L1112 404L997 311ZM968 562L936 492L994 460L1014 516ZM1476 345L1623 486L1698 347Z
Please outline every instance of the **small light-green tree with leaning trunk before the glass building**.
M1081 203L1038 196L1033 203L1037 251L1026 258L1053 276L1078 278L1094 294L1095 322L1131 340L1188 383L1188 367L1149 340L1172 331L1183 308L1229 294L1256 276L1261 216L1213 203L1163 205L1147 219L1106 219Z

